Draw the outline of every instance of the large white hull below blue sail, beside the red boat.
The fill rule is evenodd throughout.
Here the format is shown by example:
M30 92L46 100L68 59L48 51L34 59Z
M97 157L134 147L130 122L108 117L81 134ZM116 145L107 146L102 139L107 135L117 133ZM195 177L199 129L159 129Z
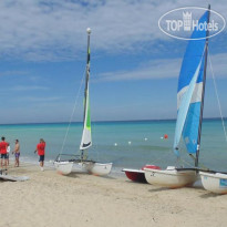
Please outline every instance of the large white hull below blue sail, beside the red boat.
M192 185L196 182L197 175L193 169L177 171L174 167L166 169L144 168L145 178L149 184L169 188L178 188Z

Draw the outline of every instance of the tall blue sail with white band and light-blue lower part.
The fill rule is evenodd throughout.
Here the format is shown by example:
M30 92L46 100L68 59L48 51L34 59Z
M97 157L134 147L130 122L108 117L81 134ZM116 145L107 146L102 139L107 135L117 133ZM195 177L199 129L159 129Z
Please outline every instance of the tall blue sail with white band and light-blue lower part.
M208 21L206 11L198 23ZM206 30L195 30L192 39L206 38ZM187 152L196 153L198 127L204 83L206 39L189 40L178 79L177 89L177 123L175 130L174 149L178 156L180 137L184 138Z

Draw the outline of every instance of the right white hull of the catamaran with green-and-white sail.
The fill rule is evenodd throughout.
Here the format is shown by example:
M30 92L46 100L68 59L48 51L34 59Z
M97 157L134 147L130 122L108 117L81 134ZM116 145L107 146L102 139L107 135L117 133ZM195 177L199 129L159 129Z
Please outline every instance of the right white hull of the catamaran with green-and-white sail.
M113 163L93 163L93 162L87 162L83 163L85 169L93 175L96 176L105 176L111 173L111 168Z

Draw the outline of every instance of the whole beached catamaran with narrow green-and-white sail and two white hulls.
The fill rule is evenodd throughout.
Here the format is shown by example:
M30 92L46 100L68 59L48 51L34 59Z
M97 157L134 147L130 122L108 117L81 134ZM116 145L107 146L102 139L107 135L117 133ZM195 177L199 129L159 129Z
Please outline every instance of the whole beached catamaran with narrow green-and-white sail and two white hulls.
M87 158L85 152L92 146L92 132L91 132L91 115L90 115L90 99L89 99L89 80L90 80L90 35L91 29L87 32L87 55L86 55L86 78L84 89L84 116L83 116L83 133L80 145L79 157L71 159L61 159L61 154L56 157L54 166L56 171L63 175L72 172L73 166L81 171L89 172L94 175L107 175L111 172L112 163L99 163Z

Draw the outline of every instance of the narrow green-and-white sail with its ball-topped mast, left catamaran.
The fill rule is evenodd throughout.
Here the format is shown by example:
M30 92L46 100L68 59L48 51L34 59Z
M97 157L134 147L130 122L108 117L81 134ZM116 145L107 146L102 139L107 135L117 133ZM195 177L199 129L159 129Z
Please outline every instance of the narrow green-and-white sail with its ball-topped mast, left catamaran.
M91 29L87 29L87 61L86 61L86 81L84 90L84 117L83 117L83 134L80 149L86 149L92 145L91 132L91 114L90 114L90 99L89 99L89 79L90 79L90 34Z

